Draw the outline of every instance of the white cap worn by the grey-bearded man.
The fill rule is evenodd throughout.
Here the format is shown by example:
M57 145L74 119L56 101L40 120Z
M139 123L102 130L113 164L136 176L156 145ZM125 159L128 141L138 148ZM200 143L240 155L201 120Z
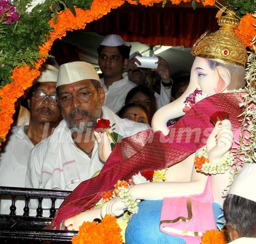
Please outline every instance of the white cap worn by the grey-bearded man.
M56 87L71 84L81 80L97 80L100 82L94 66L86 62L71 62L59 67L59 75Z

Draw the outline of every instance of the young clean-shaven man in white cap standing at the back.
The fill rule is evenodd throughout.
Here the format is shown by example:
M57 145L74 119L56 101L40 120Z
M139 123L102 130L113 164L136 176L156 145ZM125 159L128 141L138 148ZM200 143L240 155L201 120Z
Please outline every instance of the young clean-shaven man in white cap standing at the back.
M106 36L97 49L98 65L103 74L101 85L105 91L105 103L113 112L118 112L124 105L127 93L136 85L123 77L123 70L129 62L130 47L121 36Z

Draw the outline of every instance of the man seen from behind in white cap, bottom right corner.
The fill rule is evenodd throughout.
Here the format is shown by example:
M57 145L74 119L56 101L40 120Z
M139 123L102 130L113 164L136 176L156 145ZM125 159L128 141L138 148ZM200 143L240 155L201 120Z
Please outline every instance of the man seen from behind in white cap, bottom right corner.
M246 164L230 186L224 217L232 244L256 243L256 163Z

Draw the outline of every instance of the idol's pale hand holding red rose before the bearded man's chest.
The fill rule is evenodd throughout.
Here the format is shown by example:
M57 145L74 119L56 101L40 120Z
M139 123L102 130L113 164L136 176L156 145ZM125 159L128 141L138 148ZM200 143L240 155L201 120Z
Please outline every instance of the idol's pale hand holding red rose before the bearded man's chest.
M108 129L111 130L111 129ZM111 131L110 131L111 132ZM96 132L94 131L94 135L98 142L98 155L99 158L106 162L111 153L111 143L113 142L111 137L107 132Z

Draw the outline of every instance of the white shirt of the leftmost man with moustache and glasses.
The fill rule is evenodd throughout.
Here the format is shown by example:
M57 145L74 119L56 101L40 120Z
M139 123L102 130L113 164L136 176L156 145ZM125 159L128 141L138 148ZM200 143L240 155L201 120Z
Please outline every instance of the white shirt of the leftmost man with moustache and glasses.
M34 145L27 137L23 125L11 128L6 143L3 143L0 151L1 186L25 187L27 164L30 151L33 147ZM17 215L24 213L23 207L25 206L25 201L23 199L25 198L22 196L16 197L15 206L17 207ZM0 213L9 214L10 206L11 197L1 196Z

